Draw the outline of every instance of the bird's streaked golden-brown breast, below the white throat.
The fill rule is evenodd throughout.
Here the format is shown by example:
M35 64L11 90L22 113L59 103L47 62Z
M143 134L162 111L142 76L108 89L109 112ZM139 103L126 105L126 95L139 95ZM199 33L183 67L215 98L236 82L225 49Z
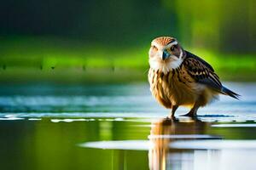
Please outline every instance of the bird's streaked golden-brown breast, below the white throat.
M183 68L168 71L166 74L150 69L148 82L152 94L159 101L163 100L170 105L193 105L195 103L195 82Z

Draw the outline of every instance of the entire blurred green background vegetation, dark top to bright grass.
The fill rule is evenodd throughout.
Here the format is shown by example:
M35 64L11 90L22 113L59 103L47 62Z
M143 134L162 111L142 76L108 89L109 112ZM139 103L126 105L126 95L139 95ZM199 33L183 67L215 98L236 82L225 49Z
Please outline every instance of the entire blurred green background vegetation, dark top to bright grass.
M14 3L0 8L1 82L146 81L149 44L164 35L224 80L256 80L253 0Z

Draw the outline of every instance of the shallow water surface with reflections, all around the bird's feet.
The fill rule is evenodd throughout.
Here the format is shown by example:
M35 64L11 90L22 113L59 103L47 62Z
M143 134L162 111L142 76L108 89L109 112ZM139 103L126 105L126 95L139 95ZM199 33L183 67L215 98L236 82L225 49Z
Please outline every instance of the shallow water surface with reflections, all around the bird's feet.
M224 84L172 120L147 84L1 85L1 169L255 169L256 84Z

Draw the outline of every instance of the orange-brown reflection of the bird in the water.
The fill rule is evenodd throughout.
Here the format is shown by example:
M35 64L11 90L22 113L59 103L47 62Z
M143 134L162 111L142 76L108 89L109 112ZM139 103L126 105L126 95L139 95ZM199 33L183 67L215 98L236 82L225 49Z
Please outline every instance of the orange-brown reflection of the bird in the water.
M208 126L209 123L198 119L166 118L153 122L148 136L152 144L148 151L150 169L181 169L181 166L193 166L189 151L173 150L169 146L177 139L191 139L195 134L204 134Z

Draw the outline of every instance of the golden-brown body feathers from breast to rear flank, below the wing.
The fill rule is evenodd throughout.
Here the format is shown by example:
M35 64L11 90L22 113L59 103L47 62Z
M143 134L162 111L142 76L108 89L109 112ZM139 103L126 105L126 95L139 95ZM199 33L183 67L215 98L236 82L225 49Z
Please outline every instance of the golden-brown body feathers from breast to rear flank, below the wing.
M194 78L198 77L195 72L190 74L192 76L189 75L185 65L181 65L179 69L169 71L166 74L151 68L148 72L150 90L155 99L166 108L172 108L172 105L192 107L195 102L200 106L207 105L218 93L198 84Z

